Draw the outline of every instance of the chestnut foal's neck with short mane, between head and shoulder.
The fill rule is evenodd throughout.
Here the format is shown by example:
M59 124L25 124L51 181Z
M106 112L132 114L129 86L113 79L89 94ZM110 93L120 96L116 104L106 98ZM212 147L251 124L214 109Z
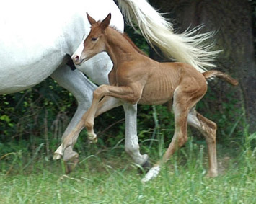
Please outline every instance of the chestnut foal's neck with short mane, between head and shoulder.
M114 64L114 68L117 68L120 63L132 61L134 58L144 55L124 34L111 27L108 27L106 31L107 53Z

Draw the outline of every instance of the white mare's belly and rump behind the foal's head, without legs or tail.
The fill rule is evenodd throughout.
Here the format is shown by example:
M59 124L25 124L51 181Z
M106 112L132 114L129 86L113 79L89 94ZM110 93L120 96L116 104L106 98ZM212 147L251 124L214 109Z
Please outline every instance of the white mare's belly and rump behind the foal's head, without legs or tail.
M101 19L110 10L115 16L113 25L123 31L122 14L110 0L11 0L1 4L0 94L22 91L53 74L61 67L63 57L71 56L82 37L88 34L86 12ZM101 73L93 72L94 61L105 68L99 69ZM111 61L103 54L81 70L97 84L104 84L110 68Z

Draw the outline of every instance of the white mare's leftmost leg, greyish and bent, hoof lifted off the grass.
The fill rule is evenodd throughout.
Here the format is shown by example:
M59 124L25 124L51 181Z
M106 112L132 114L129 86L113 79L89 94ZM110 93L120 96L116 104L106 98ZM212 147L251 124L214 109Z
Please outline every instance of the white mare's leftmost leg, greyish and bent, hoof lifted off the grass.
M66 164L66 173L69 173L78 162L79 155L76 151L73 151L73 146L77 141L80 131L84 128L84 123L80 123L81 117L89 108L92 102L92 93L97 86L92 84L80 71L71 71L69 66L59 67L53 72L51 77L55 79L61 87L69 90L69 92L76 97L78 102L76 113L63 133L62 141L64 141L67 136L70 137L65 140L65 145L61 143L61 146L58 147L53 156L53 159L61 159L61 156L63 156L63 160ZM75 128L76 132L74 133Z

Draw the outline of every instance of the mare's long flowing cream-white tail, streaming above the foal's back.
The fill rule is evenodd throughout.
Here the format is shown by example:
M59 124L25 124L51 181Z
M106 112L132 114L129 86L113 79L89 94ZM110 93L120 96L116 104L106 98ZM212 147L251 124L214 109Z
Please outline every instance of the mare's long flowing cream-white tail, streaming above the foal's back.
M213 44L205 44L213 37L214 32L197 34L201 27L174 33L172 23L162 17L146 0L117 0L126 22L134 29L138 25L141 34L149 44L160 48L164 56L183 63L189 63L198 71L206 71L206 67L215 67L211 61L220 50L212 51Z

